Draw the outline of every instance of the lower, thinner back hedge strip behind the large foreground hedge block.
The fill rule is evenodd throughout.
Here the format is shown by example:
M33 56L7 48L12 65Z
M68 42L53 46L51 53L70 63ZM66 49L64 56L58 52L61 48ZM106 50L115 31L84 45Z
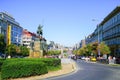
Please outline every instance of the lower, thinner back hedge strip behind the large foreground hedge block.
M51 68L61 68L61 60L55 58L13 58L7 59L6 62L18 62L18 61L35 61L35 62L44 62L47 65L48 70Z

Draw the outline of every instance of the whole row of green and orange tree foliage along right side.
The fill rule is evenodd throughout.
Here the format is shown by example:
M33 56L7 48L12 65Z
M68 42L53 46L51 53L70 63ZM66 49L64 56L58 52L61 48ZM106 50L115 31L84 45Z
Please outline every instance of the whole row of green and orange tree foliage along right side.
M91 44L88 44L78 50L74 50L73 53L77 55L84 55L84 56L90 56L91 53L93 53L94 56L98 54L98 49L100 50L101 54L109 54L110 49L105 43L94 42Z

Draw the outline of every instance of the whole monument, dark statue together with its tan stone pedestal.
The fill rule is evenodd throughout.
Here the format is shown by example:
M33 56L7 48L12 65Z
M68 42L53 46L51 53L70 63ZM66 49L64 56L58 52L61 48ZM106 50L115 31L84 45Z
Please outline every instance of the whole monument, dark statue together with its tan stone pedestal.
M31 58L41 58L43 57L43 50L41 49L41 39L42 39L42 26L38 26L37 35L34 41L31 42L30 54Z

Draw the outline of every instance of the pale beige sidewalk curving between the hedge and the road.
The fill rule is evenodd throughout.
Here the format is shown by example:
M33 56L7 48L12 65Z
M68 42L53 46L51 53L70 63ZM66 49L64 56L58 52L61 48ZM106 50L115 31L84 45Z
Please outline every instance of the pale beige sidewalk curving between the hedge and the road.
M62 59L62 69L58 71L51 71L48 72L47 74L40 75L40 76L31 76L27 78L17 78L17 79L11 79L11 80L40 80L40 79L45 79L48 77L55 77L55 76L60 76L64 74L71 73L76 70L76 63L70 59Z

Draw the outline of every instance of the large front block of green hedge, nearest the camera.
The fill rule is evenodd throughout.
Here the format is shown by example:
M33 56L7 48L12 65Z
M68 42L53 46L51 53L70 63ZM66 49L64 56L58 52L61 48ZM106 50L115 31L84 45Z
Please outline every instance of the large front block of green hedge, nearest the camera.
M3 64L1 78L18 78L48 73L47 66L43 62L18 61Z

